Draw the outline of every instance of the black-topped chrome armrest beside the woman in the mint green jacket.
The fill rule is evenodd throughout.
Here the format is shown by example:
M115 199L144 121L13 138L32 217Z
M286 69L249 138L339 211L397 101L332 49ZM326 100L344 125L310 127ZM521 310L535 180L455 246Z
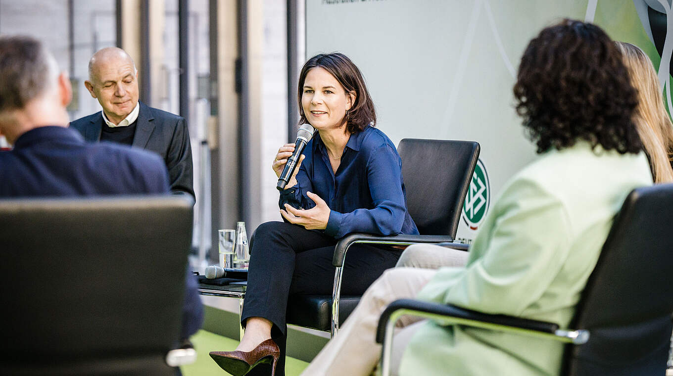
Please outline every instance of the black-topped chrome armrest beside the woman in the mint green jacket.
M589 333L586 331L569 332L567 330L559 330L559 326L551 322L508 315L491 315L489 313L456 307L455 305L430 303L414 299L399 299L390 303L382 313L376 330L376 342L383 342L386 326L390 319L396 320L396 317L405 314L435 319L446 324L459 324L507 332L541 334L547 338L554 338L563 342L573 342L575 344L585 343L589 338Z

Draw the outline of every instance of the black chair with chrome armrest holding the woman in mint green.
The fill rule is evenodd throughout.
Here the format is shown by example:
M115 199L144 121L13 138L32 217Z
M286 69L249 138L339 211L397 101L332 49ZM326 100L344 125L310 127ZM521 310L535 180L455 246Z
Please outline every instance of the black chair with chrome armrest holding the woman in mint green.
M400 299L380 318L383 375L394 323L404 314L567 342L561 375L664 375L673 319L673 184L638 188L625 200L588 279L570 328Z

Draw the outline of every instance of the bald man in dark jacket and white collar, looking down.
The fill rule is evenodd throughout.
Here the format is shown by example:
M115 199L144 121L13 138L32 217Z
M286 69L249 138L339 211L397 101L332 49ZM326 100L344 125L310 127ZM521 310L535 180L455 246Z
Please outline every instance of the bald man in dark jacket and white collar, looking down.
M174 194L194 197L192 148L184 118L138 100L138 70L125 50L98 50L84 85L103 108L70 123L86 141L110 141L153 151L164 159Z

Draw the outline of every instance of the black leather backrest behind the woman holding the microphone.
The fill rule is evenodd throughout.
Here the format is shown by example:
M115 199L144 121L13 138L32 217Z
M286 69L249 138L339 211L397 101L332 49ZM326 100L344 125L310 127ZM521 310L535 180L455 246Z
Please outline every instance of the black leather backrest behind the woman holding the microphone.
M456 237L479 159L474 141L403 139L398 146L406 207L421 235Z

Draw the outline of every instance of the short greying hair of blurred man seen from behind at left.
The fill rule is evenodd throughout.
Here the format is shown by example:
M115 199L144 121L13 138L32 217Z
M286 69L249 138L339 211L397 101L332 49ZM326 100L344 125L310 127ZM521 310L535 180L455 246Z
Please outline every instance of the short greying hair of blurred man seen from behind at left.
M52 54L30 36L0 36L0 113L19 110L56 84Z

